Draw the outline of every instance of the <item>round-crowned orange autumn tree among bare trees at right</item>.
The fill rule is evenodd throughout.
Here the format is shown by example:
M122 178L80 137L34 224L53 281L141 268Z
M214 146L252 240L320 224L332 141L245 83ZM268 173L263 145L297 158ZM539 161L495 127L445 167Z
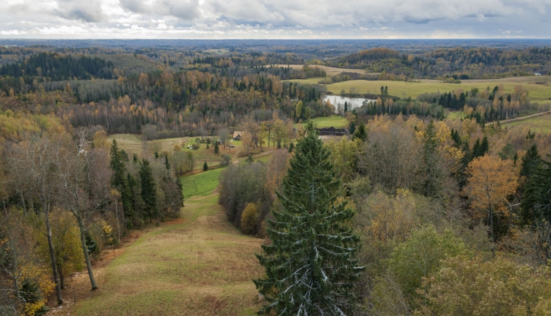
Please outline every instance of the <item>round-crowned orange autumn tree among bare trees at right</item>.
M486 155L472 160L467 173L470 178L464 194L469 198L470 209L478 218L486 217L492 240L496 240L499 219L510 216L507 198L517 189L512 162Z

